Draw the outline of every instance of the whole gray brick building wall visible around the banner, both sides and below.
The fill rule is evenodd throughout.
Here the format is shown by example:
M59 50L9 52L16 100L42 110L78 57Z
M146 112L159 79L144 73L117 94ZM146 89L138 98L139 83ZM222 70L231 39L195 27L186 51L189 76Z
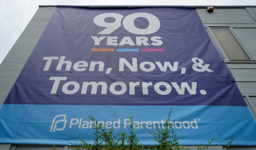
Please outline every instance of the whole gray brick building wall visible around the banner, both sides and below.
M39 7L0 65L0 106L8 95L55 9L56 7ZM207 12L206 8L197 8L197 12L213 43L234 75L237 86L243 94L253 117L256 118L256 8L214 8L212 13ZM211 30L212 27L229 28L252 60L230 61L214 36ZM191 148L196 149L196 147ZM256 149L255 147L247 148ZM52 148L51 146L40 145L35 147L33 145L0 144L0 149ZM68 150L69 148L68 146L58 146L58 149ZM223 148L222 146L213 146L210 149ZM236 149L240 148L236 147ZM241 149L244 149L244 147Z

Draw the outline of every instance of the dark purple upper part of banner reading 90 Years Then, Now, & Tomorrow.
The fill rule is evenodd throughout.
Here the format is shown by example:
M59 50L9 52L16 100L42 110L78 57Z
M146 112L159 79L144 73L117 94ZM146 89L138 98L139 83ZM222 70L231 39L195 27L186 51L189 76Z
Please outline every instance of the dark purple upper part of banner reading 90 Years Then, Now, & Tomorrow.
M4 104L246 106L196 9L69 7Z

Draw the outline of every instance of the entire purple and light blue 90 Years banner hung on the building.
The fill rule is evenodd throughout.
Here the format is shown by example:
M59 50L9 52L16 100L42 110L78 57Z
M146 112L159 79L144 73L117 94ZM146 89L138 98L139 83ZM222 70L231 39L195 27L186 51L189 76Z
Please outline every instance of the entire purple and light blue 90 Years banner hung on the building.
M0 110L0 142L93 142L93 116L143 144L256 145L256 124L192 8L57 7Z

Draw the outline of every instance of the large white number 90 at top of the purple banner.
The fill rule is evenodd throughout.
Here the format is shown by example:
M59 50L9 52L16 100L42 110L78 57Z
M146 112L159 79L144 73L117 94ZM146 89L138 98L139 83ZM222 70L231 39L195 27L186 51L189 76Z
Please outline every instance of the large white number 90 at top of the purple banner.
M113 17L116 20L111 23L105 22L105 18L107 18L107 17ZM121 20L123 17L124 16L119 13L102 13L102 14L99 14L98 16L96 16L93 19L93 22L97 26L107 27L98 34L110 34L121 26ZM143 17L148 20L149 25L147 28L140 29L140 28L135 27L134 20L139 17ZM137 12L137 13L132 13L132 14L126 16L123 20L123 26L127 31L129 31L133 34L147 35L147 34L156 32L160 28L160 21L158 20L158 18L156 16L154 16L150 13Z

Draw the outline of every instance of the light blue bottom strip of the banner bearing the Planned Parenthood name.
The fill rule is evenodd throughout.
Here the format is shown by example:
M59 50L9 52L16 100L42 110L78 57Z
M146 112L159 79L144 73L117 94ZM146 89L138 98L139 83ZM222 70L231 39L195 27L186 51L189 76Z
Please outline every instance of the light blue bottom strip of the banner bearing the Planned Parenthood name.
M77 106L77 105L3 105L0 114L0 140L4 143L75 145L80 134L93 141L93 123L87 115L128 133L129 115L135 133L143 144L155 145L148 131L162 128L170 106ZM232 113L230 113L232 112ZM21 116L21 117L20 117ZM256 124L247 107L173 106L171 121L180 144L256 145ZM9 123L12 122L12 123ZM8 125L7 125L8 124ZM227 134L228 133L228 134ZM29 139L29 140L28 140Z

